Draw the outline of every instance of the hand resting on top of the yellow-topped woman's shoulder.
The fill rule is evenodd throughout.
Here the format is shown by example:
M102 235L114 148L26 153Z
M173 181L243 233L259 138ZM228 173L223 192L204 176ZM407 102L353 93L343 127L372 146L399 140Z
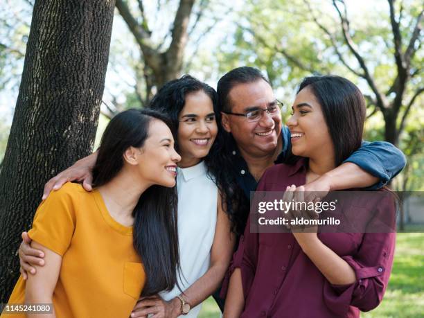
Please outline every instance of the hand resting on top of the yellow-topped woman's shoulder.
M93 179L91 176L91 168L93 168L96 163L96 159L97 152L94 152L89 156L76 161L73 166L67 168L67 170L63 170L57 176L48 180L44 186L42 200L46 199L52 190L60 189L63 184L69 181L82 181L82 186L84 186L85 190L91 191L91 182Z

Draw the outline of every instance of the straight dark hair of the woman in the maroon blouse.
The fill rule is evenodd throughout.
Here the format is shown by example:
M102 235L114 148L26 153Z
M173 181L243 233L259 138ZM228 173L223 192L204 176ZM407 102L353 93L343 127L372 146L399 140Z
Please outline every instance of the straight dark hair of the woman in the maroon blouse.
M340 76L304 78L297 94L308 87L321 105L328 132L335 148L335 165L339 166L360 148L365 121L365 100L360 89Z

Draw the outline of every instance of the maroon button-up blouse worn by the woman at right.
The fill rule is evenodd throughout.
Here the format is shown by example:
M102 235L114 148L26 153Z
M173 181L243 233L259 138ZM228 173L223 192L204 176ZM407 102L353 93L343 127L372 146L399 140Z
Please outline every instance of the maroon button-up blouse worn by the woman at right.
M256 191L285 191L305 184L305 161L266 170ZM382 209L394 202L379 202ZM357 281L333 285L303 253L292 233L250 233L250 220L222 286L236 267L245 308L240 317L359 317L382 301L393 264L396 233L318 233L355 270Z

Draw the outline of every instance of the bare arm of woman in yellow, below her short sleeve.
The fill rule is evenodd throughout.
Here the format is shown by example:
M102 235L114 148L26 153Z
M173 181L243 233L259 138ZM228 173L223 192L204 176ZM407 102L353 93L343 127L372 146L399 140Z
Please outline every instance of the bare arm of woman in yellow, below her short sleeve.
M26 281L25 301L26 303L52 303L53 291L56 283L58 283L60 265L62 265L62 256L56 254L43 245L32 242L31 246L39 249L44 253L46 265L37 268L37 275L30 275ZM52 314L28 314L29 318L55 318L53 308Z

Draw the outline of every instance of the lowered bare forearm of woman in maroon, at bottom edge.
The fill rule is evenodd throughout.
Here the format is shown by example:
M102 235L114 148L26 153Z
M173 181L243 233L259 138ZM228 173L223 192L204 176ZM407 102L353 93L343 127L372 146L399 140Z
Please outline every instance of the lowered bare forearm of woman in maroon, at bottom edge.
M225 299L224 317L238 318L245 307L245 297L243 295L242 277L240 268L236 268L231 275L227 299Z

